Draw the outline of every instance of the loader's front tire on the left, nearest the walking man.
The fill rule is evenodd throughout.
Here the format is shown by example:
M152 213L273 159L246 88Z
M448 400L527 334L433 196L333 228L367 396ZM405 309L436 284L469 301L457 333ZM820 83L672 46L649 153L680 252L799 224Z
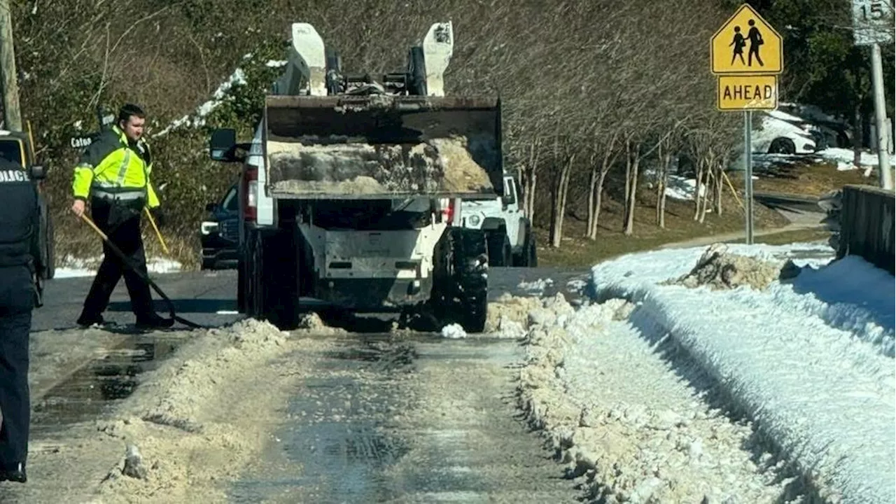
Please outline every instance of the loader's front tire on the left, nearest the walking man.
M254 241L253 314L279 329L295 329L299 321L298 268L293 232L258 233Z

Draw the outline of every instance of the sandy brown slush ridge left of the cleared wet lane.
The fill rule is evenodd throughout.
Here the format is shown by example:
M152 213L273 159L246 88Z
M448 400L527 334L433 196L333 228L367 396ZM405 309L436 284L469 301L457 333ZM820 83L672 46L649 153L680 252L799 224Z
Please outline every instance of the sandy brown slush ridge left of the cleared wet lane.
M303 362L278 357L328 343L318 326L280 332L244 320L196 331L146 373L110 418L35 439L26 485L0 487L11 502L219 502L266 442L266 432L302 378ZM323 333L332 330L323 330ZM301 352L297 352L301 355ZM298 357L301 359L301 357ZM122 474L125 449L139 448L145 479Z

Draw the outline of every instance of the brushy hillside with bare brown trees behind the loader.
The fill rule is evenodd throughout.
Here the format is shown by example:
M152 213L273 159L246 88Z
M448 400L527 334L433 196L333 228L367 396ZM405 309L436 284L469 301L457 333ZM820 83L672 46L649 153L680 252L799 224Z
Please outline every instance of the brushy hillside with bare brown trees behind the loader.
M502 96L508 164L521 172L542 244L562 248L570 214L587 216L576 238L598 239L607 226L631 236L636 207L653 204L639 196L650 193L639 175L646 168L660 181L680 153L704 182L719 186L719 169L737 148L739 118L715 110L706 68L706 41L728 12L714 0L688 5L567 0L543 11L469 0L371 0L351 9L138 0L75 9L71 0L20 2L13 19L22 113L51 169L58 256L99 254L98 240L68 213L75 125L90 129L97 105L114 111L127 100L150 114L154 178L169 222L163 231L175 258L196 265L204 205L220 197L237 169L207 159L208 134L216 126L249 134L263 92L280 72L271 61L287 57L294 21L313 23L346 68L376 74L400 70L429 24L451 20L457 40L448 92ZM668 39L676 43L658 51L655 40ZM719 201L703 205L703 213L726 204L728 195L719 193L710 192ZM607 205L622 208L617 222L599 217ZM155 240L146 241L150 255L158 254Z

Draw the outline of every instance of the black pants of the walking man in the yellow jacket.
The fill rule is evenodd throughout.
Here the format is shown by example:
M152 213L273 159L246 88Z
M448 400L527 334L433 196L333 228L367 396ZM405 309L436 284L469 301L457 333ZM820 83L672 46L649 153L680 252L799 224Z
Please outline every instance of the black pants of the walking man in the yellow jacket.
M128 210L123 206L110 204L94 198L90 202L90 213L93 222L108 236L115 246L125 253L129 262L147 275L146 256L143 252L143 239L140 234L140 211ZM138 321L156 317L152 309L150 286L139 275L118 257L108 244L103 242L103 262L90 286L87 299L84 300L82 318L98 319L106 310L109 297L115 291L121 277L125 277L127 292L131 296L131 310Z

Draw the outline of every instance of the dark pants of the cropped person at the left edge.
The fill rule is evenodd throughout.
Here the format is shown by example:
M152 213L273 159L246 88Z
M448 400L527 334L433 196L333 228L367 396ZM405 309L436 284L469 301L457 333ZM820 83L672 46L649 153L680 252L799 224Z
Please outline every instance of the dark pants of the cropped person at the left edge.
M31 421L28 335L34 288L26 266L0 267L0 469L24 464Z

